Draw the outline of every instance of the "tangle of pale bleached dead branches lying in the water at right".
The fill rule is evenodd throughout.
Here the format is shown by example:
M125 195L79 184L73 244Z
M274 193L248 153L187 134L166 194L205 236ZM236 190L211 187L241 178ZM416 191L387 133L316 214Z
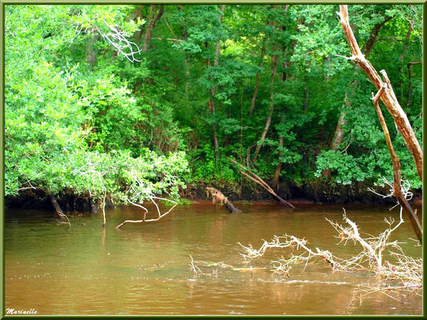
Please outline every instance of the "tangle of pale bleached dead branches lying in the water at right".
M290 248L290 257L281 257L278 260L272 261L273 275L284 275L290 277L289 270L292 264L305 263L308 264L310 260L322 259L327 262L333 271L356 271L368 270L375 275L379 276L379 281L376 284L359 284L355 287L353 292L354 301L362 301L366 295L373 292L379 292L397 301L402 292L412 295L421 295L423 286L423 263L422 259L413 259L404 255L399 242L390 242L390 235L395 231L403 222L403 210L401 208L399 213L399 221L395 224L393 218L384 219L388 224L388 228L380 233L377 237L362 237L359 228L355 222L351 221L344 210L344 222L346 225L341 225L338 222L332 222L326 219L335 230L339 233L337 236L340 243L344 246L350 242L353 244L360 244L362 251L351 259L340 259L335 257L328 250L320 250L315 248L311 250L307 246L308 242L305 239L298 239L293 235L275 235L271 242L264 240L259 249L254 249L251 244L243 246L238 244L244 249L244 253L240 253L245 262L249 263L253 259L258 259L266 253L270 248ZM397 252L388 251L390 257L395 259L395 263L384 261L386 249L393 248ZM294 255L295 250L301 250L301 255ZM305 269L305 268L304 268Z

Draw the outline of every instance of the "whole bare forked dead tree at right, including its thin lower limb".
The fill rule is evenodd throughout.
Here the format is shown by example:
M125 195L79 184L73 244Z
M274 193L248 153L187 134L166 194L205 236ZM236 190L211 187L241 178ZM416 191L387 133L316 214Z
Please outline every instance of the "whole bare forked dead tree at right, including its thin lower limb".
M417 215L414 213L413 209L410 207L410 205L408 204L408 201L406 200L405 196L402 193L400 161L399 161L399 158L397 158L395 150L393 149L393 145L390 140L390 134L388 132L388 128L386 126L384 116L382 115L382 111L379 108L379 104L378 104L379 99L382 100L382 102L390 112L391 116L393 116L396 127L399 130L399 132L402 134L402 137L404 138L404 141L406 143L406 147L408 148L408 150L410 151L410 153L414 158L415 167L417 168L419 178L422 181L423 155L422 155L421 147L419 147L419 142L415 137L412 127L410 126L408 117L406 116L402 107L400 107L399 102L397 101L397 98L395 96L395 93L393 92L393 88L391 87L391 83L390 83L390 80L388 79L386 71L385 70L380 71L380 73L384 78L384 82L383 82L379 74L377 73L377 70L375 70L373 65L371 65L371 63L368 60L366 60L366 58L360 51L360 47L357 44L353 31L351 30L350 23L348 21L347 6L340 5L339 14L341 18L342 30L344 31L348 44L351 47L352 56L351 58L348 58L348 59L359 63L362 69L364 70L364 72L366 72L369 78L371 78L371 81L373 82L375 87L377 87L378 89L377 94L375 95L375 97L373 97L373 104L375 106L375 111L377 111L379 122L381 123L382 129L384 131L384 136L386 138L388 151L390 153L391 160L393 163L393 175L394 175L393 194L397 198L397 202L399 202L400 206L402 206L403 210L408 216L410 223L412 224L413 229L415 231L415 234L417 235L417 238L421 243L422 227L421 227L421 224L419 223Z

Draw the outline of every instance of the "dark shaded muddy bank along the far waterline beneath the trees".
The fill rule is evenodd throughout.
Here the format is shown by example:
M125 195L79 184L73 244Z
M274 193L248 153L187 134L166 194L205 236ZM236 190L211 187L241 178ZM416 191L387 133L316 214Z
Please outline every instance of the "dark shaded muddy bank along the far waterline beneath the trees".
M264 202L277 203L271 195L257 184L251 182L199 182L198 184L188 184L187 189L180 190L180 196L188 200L209 200L206 187L213 186L220 190L232 202ZM299 204L395 204L394 198L381 198L379 195L368 191L370 185L358 183L351 185L326 184L322 182L309 182L298 186L292 183L282 183L280 189L276 191L278 195L298 206ZM388 189L377 187L378 193L386 194ZM421 206L422 191L413 190L414 197L410 204ZM56 196L63 211L87 211L96 213L96 207L89 198L76 197L63 193ZM42 191L37 189L31 193L21 193L16 197L5 198L6 208L20 209L52 209L52 204ZM107 207L112 207L112 203L107 201Z

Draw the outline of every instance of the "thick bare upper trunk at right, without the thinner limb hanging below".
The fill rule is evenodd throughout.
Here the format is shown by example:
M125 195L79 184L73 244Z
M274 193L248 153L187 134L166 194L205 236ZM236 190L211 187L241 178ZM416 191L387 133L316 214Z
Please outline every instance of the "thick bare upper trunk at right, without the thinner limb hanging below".
M415 167L417 168L417 172L419 178L422 181L422 164L423 164L423 153L421 147L419 146L419 142L415 137L414 131L410 126L410 122L408 117L406 116L404 110L399 105L395 93L393 92L393 88L391 87L390 80L384 70L381 71L382 76L384 77L384 83L381 80L381 77L377 73L377 70L371 65L371 63L366 60L362 52L360 51L360 47L357 44L353 31L351 30L350 23L348 22L348 10L347 6L340 5L340 18L342 30L346 36L348 44L351 47L351 58L348 58L351 61L355 61L359 63L364 72L369 76L373 84L377 89L382 87L385 83L386 88L384 89L384 93L380 96L382 102L388 109L388 112L391 114L393 119L395 120L395 124L400 134L404 138L406 147L409 152L413 156Z

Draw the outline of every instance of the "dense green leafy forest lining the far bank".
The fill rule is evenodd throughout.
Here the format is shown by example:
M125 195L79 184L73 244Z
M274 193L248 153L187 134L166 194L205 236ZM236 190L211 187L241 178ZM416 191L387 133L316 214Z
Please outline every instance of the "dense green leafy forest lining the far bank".
M377 90L345 58L337 5L5 8L9 200L138 204L205 186L262 198L229 158L285 199L368 200L393 180ZM420 143L421 9L348 6ZM402 178L420 190L384 116Z

